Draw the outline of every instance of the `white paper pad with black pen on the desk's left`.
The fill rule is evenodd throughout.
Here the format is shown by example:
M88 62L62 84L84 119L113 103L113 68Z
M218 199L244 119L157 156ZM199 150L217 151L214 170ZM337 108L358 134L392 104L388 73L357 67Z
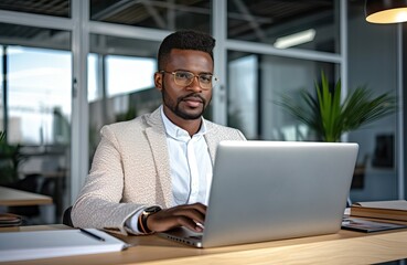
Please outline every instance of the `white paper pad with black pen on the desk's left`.
M103 231L87 229L105 241L79 230L0 233L0 262L119 252L127 244Z

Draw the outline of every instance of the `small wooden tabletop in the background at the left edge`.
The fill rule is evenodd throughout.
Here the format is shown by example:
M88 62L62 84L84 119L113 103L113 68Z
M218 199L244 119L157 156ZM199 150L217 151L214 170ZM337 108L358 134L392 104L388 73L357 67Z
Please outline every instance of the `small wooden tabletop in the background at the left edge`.
M0 205L3 206L29 206L51 203L52 198L47 195L0 187Z

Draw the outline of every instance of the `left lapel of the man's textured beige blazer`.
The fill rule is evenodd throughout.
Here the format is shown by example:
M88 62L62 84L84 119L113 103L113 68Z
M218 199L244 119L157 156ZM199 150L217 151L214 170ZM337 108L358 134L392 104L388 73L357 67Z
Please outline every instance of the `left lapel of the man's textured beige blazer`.
M151 147L158 174L156 179L157 201L163 201L165 208L170 208L172 204L171 170L165 129L161 120L160 108L150 115L147 123L151 126L146 129L146 135Z

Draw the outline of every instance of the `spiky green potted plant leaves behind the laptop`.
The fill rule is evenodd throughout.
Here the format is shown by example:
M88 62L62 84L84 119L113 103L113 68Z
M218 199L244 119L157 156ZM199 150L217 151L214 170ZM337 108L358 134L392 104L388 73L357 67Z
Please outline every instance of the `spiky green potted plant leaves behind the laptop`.
M323 141L340 141L344 132L358 129L396 110L396 97L389 93L373 96L366 86L356 87L341 102L341 81L330 88L325 74L315 83L315 96L300 91L300 102L282 95L277 102L298 120L308 125Z

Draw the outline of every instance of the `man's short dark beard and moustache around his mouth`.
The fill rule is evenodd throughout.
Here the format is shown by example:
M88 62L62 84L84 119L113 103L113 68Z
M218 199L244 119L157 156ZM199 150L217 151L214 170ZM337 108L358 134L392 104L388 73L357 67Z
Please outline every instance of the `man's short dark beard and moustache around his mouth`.
M176 98L176 102L173 100L167 93L165 86L164 84L162 84L162 92L161 92L161 96L162 96L162 102L163 104L173 113L175 114L178 117L183 118L183 119L199 119L202 117L203 113L206 109L206 99L204 97L202 97L199 93L190 93L185 96L181 96ZM190 113L186 109L183 109L182 107L180 107L180 103L182 100L184 100L185 98L191 98L191 97L197 97L202 100L202 109L199 113ZM210 99L211 100L211 99Z

